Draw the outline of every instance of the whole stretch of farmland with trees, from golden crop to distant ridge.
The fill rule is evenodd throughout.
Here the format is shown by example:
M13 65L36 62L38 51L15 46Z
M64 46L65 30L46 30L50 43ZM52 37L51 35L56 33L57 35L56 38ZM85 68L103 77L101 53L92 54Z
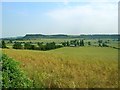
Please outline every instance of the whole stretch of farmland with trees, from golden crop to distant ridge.
M78 36L61 38L59 35L56 35L56 38L28 36L29 38L1 41L3 53L10 58L9 60L19 62L26 79L30 79L30 85L27 83L27 86L35 88L118 87L120 43L116 35L103 35L105 38L100 38L99 35L88 35L84 38ZM41 36L43 35L39 37Z

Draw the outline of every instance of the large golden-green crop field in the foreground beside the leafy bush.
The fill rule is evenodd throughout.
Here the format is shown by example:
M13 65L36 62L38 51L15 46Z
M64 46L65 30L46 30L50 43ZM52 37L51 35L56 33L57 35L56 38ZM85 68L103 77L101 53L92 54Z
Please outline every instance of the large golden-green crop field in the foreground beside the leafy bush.
M4 49L21 62L34 87L118 87L118 52L112 48L68 47L51 51Z

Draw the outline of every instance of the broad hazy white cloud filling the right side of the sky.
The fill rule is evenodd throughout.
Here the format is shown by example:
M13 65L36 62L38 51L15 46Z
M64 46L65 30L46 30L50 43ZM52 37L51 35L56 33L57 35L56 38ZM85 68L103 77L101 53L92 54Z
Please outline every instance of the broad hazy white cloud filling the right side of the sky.
M49 11L54 29L64 32L117 33L118 9L116 4L95 3Z

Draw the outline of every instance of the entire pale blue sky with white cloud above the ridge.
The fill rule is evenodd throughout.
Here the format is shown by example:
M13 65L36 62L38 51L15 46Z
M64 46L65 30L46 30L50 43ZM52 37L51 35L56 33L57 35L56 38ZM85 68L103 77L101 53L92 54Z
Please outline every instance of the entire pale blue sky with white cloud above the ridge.
M117 34L118 1L3 0L0 3L0 37L36 33Z

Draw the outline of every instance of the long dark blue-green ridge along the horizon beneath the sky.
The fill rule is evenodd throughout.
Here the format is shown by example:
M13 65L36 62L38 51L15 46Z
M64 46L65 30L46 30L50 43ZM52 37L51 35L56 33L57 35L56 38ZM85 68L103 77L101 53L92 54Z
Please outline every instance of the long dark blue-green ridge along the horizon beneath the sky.
M55 34L55 35L44 35L44 34L26 34L23 37L15 37L15 38L2 38L2 39L37 39L37 38L83 38L83 39L119 39L120 40L120 35L118 34L90 34L90 35L66 35L66 34Z

